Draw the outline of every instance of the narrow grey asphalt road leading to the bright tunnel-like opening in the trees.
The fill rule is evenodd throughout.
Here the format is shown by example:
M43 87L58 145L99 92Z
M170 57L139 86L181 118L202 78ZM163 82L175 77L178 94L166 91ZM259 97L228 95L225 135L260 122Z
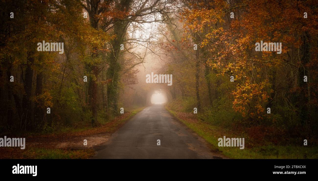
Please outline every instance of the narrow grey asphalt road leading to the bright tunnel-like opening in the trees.
M96 148L93 158L220 158L162 105L137 113L109 141ZM160 146L157 140L160 140Z

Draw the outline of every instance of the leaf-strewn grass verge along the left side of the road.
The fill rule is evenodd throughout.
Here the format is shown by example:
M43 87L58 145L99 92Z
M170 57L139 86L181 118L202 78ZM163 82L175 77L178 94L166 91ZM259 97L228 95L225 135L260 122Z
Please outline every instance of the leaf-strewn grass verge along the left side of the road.
M71 149L71 148L55 148L52 142L67 142L66 138L77 138L80 136L90 136L100 133L114 133L132 116L144 108L131 110L123 115L117 116L112 120L105 122L103 125L96 127L83 127L80 129L68 129L54 132L51 134L30 135L30 139L38 144L21 150L20 147L1 147L0 159L85 159L95 155L92 148ZM15 137L15 136L13 136ZM35 141L36 140L36 141ZM72 140L71 140L72 141ZM41 145L41 143L45 145ZM34 143L33 143L34 144Z

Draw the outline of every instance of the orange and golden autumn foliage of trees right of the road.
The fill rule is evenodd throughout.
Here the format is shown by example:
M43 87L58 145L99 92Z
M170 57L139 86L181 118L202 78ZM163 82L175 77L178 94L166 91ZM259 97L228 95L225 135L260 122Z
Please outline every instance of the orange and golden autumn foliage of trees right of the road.
M215 86L230 88L217 93L210 84L204 92L209 97L217 94L217 99L230 98L233 111L249 125L276 125L316 135L317 13L316 2L310 0L191 2L181 13L183 42L198 44L201 54L196 59L211 68L210 75L219 77ZM281 54L255 51L261 40L281 42Z

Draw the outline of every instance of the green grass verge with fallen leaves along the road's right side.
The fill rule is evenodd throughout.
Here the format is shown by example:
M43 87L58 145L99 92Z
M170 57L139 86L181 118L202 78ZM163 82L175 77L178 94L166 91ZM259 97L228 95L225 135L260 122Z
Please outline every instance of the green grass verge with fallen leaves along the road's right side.
M302 158L318 158L318 147L317 146L295 146L295 145L273 145L268 144L265 146L257 146L253 148L244 148L242 150L239 147L218 147L218 138L220 135L226 135L226 137L233 137L233 133L226 132L226 130L205 123L205 122L188 122L180 119L177 113L166 109L174 115L179 121L183 122L187 127L195 131L199 136L204 138L208 143L211 143L213 150L220 150L222 154L229 158L254 158L254 159L302 159ZM237 136L234 136L237 137ZM246 140L245 140L246 142Z

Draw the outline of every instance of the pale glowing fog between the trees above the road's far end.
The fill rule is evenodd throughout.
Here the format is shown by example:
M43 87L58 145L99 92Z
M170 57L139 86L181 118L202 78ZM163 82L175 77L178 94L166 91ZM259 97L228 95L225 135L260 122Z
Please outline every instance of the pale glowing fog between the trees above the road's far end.
M157 22L132 23L128 29L130 41L125 45L129 52L126 53L128 56L126 59L133 57L133 61L128 63L139 64L134 67L135 70L138 70L135 74L137 83L125 87L125 92L133 91L135 93L132 94L141 94L147 104L162 104L167 102L169 97L169 87L166 83L146 83L147 74L166 74L169 60L167 54L162 51L162 34L158 30L164 26ZM129 95L124 95L123 99L129 99Z

